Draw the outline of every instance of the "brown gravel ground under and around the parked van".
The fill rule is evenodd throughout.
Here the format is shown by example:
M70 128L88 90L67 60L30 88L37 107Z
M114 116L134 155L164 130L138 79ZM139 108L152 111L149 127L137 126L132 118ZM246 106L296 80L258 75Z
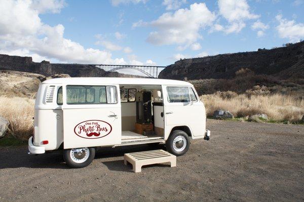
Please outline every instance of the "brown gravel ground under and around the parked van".
M304 126L208 120L207 127L211 139L192 141L177 167L141 173L124 166L123 154L147 145L102 148L83 169L68 169L60 152L0 148L0 201L304 200Z

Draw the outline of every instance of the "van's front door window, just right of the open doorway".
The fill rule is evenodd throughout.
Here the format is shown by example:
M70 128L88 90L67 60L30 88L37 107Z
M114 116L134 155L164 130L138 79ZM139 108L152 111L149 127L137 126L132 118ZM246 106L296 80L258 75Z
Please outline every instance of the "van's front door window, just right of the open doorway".
M167 87L168 102L190 102L188 87Z

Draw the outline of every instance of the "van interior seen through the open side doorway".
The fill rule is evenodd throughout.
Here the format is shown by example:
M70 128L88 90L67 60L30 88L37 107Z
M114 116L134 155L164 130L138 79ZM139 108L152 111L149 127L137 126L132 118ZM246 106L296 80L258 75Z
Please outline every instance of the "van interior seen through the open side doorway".
M120 85L122 143L164 140L164 105L160 85Z

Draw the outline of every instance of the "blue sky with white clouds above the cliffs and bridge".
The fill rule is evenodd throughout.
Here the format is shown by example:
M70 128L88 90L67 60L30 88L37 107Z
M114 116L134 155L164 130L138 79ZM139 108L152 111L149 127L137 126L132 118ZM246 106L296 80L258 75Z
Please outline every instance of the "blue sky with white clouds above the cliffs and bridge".
M0 53L155 64L304 39L304 0L0 0Z

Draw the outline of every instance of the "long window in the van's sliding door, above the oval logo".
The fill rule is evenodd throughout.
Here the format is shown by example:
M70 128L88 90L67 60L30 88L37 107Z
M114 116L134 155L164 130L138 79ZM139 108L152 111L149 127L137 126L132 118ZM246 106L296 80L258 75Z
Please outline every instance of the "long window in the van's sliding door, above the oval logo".
M117 103L116 87L115 86L66 86L66 103L67 104Z

